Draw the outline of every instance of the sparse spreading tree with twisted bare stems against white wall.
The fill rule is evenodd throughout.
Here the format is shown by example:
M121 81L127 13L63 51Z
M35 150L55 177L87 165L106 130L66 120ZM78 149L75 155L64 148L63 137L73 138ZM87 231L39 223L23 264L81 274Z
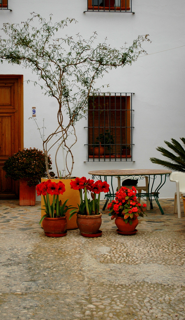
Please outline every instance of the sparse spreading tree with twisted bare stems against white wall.
M71 176L74 164L71 148L77 141L75 124L85 116L89 96L100 90L95 87L96 80L112 68L131 65L141 53L146 53L141 47L142 43L150 41L148 35L138 36L129 48L115 49L106 44L106 39L102 44L95 44L96 32L88 40L84 40L80 34L76 35L76 39L67 35L57 37L72 22L76 23L74 19L67 18L52 24L52 15L46 21L39 14L32 13L32 17L21 25L4 23L2 30L7 39L0 38L1 62L7 60L31 68L41 80L41 89L45 89L45 94L58 102L58 126L43 141L48 178L51 177L47 155L54 146L58 177L57 154L61 147L66 152L67 174L63 178ZM37 81L34 84L38 84ZM68 123L65 123L66 115ZM72 132L74 141L69 145L67 139ZM71 155L71 169L68 168L68 155Z

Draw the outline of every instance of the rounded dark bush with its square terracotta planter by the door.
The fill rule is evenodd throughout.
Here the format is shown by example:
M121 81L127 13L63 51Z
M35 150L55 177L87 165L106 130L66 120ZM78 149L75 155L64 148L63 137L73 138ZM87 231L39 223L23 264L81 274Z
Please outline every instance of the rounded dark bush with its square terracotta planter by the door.
M48 156L49 169L52 169L51 164ZM6 178L19 180L19 205L35 205L36 185L46 174L43 151L36 148L24 148L5 161L3 170L6 172ZM50 175L55 175L55 173L50 172Z

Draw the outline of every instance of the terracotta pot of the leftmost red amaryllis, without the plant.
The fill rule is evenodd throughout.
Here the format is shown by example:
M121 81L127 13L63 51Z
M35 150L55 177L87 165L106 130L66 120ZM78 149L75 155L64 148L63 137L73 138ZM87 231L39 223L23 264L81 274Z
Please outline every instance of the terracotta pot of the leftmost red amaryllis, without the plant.
M60 218L44 218L42 226L46 236L63 237L66 235L67 220L65 217Z

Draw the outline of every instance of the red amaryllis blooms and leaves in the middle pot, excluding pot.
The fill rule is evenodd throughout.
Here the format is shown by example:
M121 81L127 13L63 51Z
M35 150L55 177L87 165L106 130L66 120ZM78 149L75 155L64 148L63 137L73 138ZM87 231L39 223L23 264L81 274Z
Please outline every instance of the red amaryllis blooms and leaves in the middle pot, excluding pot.
M75 214L79 213L81 215L95 215L99 214L99 204L100 204L100 193L109 191L109 184L106 181L86 179L85 177L76 178L74 181L70 182L71 189L80 191L80 205L75 208L70 213L70 218ZM84 190L84 200L82 198L82 190ZM91 192L92 200L87 198L87 192ZM96 195L98 194L98 198ZM76 210L78 209L78 211Z

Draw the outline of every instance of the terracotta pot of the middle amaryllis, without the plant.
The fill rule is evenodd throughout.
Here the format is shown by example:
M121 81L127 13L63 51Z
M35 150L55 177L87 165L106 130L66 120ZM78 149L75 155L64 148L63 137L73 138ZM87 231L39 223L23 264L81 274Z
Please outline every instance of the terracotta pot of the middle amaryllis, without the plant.
M77 214L77 226L80 229L80 233L83 235L92 235L98 233L99 228L102 224L102 214L94 215L94 216L84 216ZM101 234L100 234L101 236Z

